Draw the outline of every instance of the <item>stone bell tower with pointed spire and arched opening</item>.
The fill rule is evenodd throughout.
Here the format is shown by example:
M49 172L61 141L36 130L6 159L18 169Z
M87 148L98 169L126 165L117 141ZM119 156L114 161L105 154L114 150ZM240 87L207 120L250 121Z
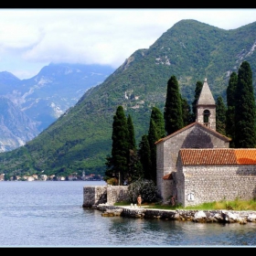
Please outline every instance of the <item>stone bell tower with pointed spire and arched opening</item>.
M207 79L204 80L202 90L198 97L196 121L216 131L216 104L209 90Z

